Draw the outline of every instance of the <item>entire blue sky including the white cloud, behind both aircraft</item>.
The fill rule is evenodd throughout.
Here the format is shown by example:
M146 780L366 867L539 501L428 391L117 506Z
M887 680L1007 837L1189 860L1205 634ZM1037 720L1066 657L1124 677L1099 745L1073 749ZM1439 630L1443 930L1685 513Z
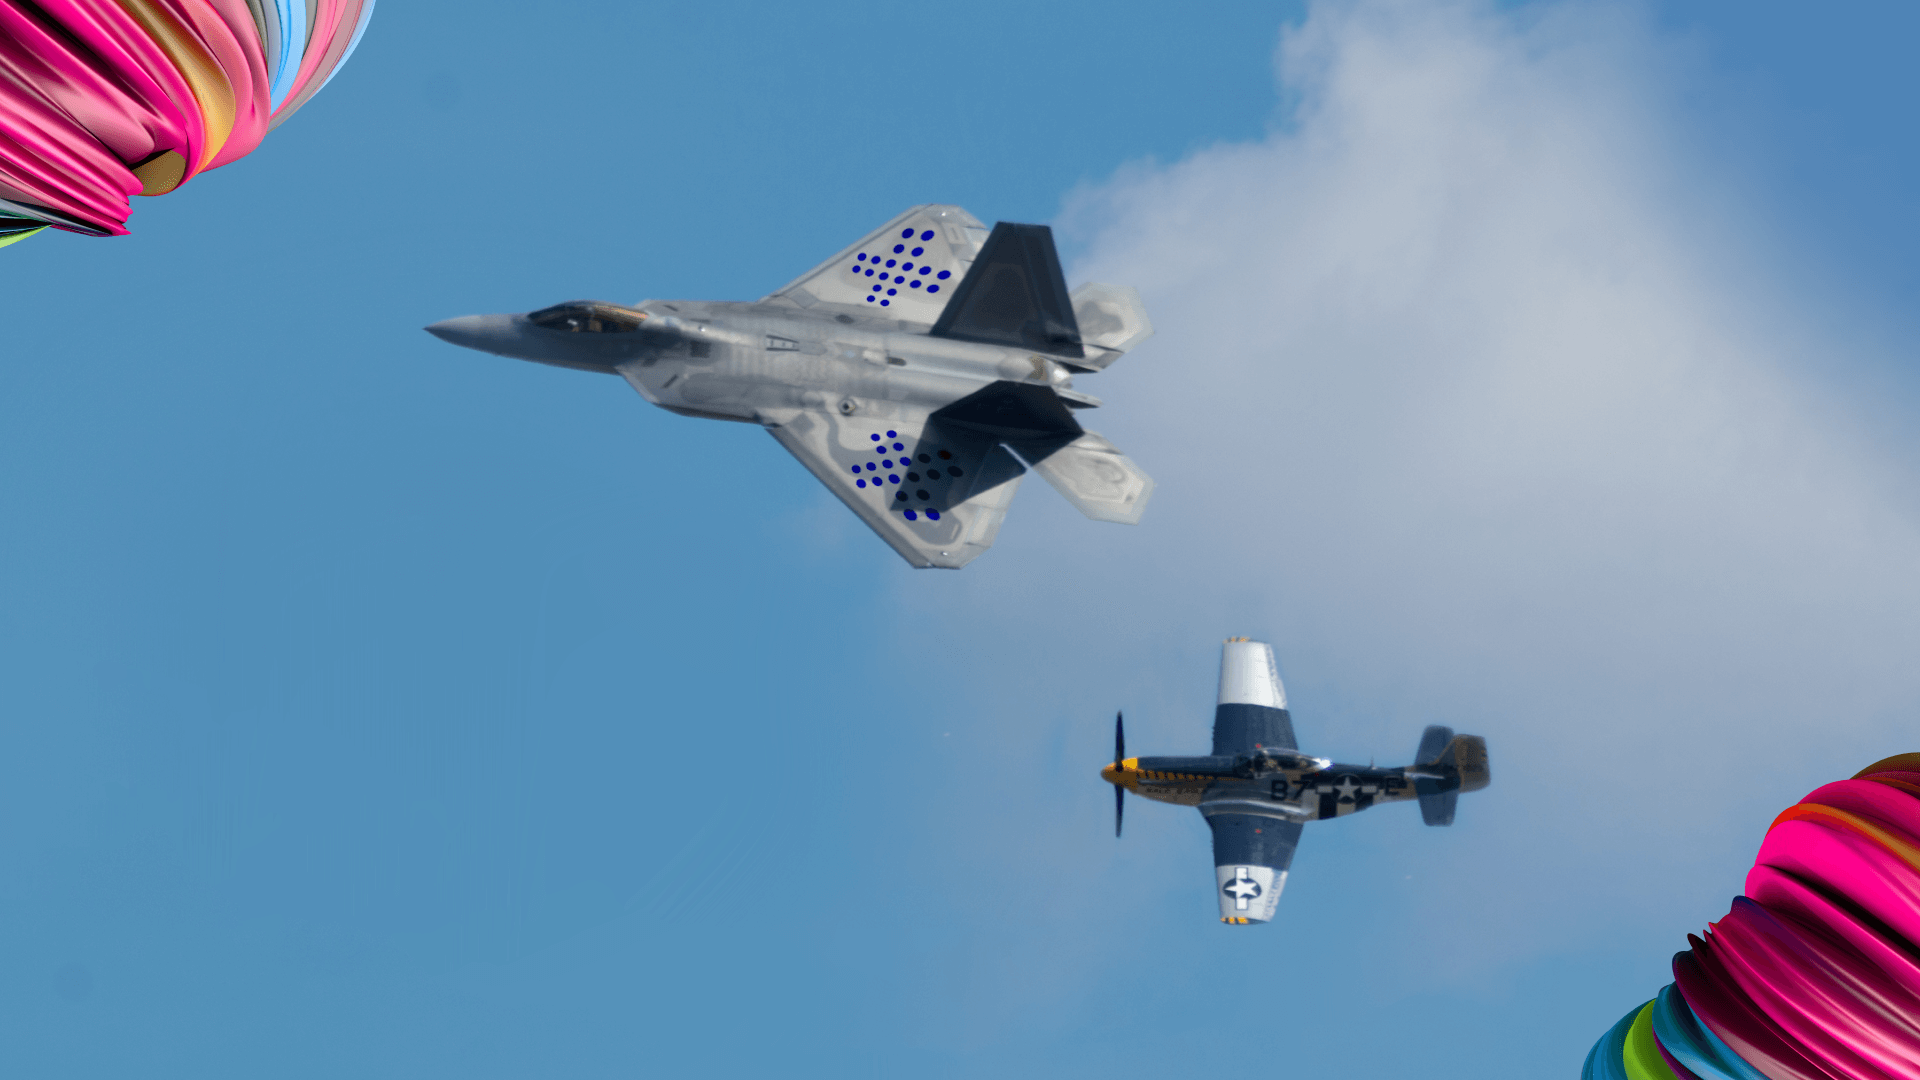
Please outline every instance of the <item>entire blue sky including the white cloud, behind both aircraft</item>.
M0 1072L1571 1074L1912 749L1914 19L382 6L132 236L0 254ZM916 202L1140 286L1139 528L1027 484L908 571L760 432L419 331ZM1494 786L1219 926L1096 769L1204 748L1233 634L1308 748Z

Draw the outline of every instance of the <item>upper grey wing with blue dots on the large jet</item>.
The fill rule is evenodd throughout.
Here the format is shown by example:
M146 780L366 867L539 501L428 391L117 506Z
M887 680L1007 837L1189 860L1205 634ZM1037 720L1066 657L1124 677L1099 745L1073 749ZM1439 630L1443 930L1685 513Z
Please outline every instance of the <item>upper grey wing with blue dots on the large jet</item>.
M760 304L843 304L931 327L985 242L987 227L958 206L916 206Z

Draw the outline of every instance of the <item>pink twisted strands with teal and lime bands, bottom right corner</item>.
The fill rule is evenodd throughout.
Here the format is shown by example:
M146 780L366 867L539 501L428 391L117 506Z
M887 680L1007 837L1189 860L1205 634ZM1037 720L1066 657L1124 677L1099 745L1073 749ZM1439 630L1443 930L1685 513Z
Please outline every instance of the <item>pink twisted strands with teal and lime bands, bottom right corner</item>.
M1920 1080L1920 753L1788 807L1745 888L1584 1080Z

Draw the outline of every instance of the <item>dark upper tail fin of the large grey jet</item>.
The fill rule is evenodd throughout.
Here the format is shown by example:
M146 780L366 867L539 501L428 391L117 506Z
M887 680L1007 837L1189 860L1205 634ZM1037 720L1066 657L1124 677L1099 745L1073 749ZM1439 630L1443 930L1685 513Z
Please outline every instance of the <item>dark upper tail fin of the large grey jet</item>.
M952 300L927 331L935 338L1029 348L1083 359L1068 281L1044 225L1000 221Z

